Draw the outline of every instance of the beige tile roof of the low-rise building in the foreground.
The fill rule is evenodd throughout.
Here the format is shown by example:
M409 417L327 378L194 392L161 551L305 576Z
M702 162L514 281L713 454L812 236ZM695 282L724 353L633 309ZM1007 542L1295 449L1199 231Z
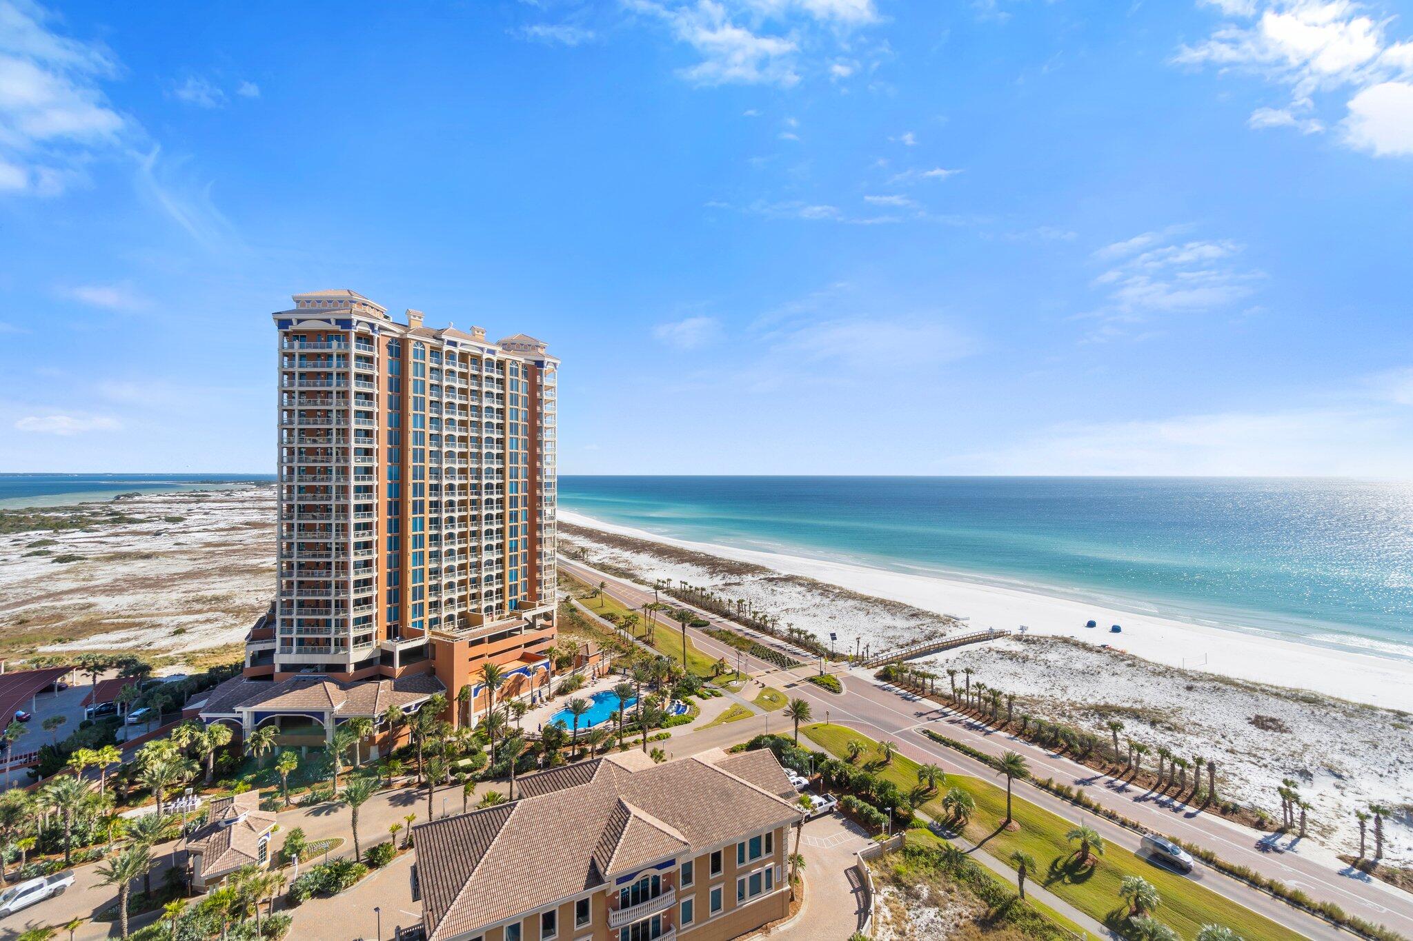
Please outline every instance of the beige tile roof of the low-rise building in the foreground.
M625 767L615 759L626 753L616 755L527 775L513 804L417 827L430 941L533 911L688 848L793 822L800 808L771 790L776 759L762 755L735 762L735 770L722 766L731 763L722 752L646 767L636 760ZM793 794L779 765L776 775Z

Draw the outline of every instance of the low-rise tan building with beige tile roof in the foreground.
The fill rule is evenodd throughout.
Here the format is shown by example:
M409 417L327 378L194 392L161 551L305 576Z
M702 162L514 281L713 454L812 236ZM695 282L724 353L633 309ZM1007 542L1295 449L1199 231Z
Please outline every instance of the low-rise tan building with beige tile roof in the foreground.
M766 749L623 752L414 830L428 941L723 941L790 909L797 794Z

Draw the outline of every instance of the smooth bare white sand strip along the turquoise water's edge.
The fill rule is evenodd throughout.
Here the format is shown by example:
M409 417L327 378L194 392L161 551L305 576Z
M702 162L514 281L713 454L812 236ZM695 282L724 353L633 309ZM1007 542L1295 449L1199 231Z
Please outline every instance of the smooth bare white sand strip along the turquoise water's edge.
M1122 602L1115 604L1113 600L1048 595L1033 588L959 577L901 573L859 563L692 542L609 523L562 508L560 518L571 525L755 564L935 614L965 618L975 628L1016 631L1024 625L1033 636L1068 636L1092 645L1108 643L1166 666L1413 711L1413 662L1409 660L1303 643L1269 632L1194 624L1123 608ZM1088 619L1098 621L1099 626L1084 628ZM1123 632L1109 633L1111 624L1122 624Z

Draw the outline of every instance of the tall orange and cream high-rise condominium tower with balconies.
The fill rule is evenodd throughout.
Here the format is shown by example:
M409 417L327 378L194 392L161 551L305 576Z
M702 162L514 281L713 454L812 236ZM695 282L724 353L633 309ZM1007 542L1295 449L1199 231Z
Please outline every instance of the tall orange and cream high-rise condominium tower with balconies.
M554 642L558 360L352 291L274 322L280 583L246 676L431 672L455 696L495 660L533 683Z

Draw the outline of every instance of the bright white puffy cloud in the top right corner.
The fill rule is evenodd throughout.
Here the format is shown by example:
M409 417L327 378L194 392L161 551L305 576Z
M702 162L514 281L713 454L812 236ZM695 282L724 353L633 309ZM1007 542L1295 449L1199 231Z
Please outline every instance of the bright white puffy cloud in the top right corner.
M1378 157L1406 155L1413 42L1390 41L1392 20L1375 20L1354 0L1202 0L1229 20L1173 61L1256 75L1290 90L1290 104L1258 107L1252 128L1323 131L1321 96L1348 95L1341 142ZM1342 96L1341 95L1341 96Z

